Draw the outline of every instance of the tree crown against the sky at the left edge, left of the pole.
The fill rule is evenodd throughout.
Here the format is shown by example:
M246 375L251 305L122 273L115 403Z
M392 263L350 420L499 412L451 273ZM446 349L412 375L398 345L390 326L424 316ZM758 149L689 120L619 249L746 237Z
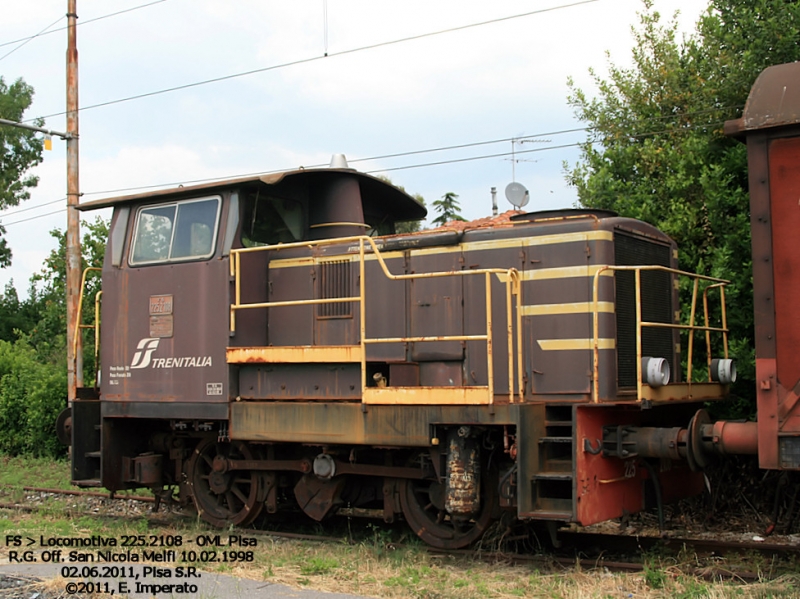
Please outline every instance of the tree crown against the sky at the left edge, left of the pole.
M0 118L19 122L33 101L33 88L22 79L10 86L0 77ZM43 121L36 123L41 126ZM0 125L0 210L16 206L30 198L38 177L25 175L42 161L43 142L36 133L9 125ZM0 268L11 264L11 248L3 238L0 225Z

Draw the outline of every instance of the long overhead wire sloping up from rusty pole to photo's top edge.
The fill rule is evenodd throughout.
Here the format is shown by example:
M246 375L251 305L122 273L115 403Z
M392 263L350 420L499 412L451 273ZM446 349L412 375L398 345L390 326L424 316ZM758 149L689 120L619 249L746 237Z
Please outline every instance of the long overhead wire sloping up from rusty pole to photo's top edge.
M161 0L161 1L163 1L163 0ZM399 38L399 39L396 39L396 40L390 40L390 41L386 41L386 42L379 42L377 44L370 44L368 46L361 46L359 48L351 48L350 50L342 50L340 52L329 52L329 53L324 54L322 56L312 56L310 58L300 58L298 60L292 60L292 61L289 61L289 62L285 62L285 63L277 64L277 65L272 65L272 66L269 66L269 67L262 67L260 69L252 69L250 71L243 71L241 73L234 73L234 74L231 74L231 75L223 75L221 77L214 77L214 78L211 78L211 79L204 79L202 81L195 81L194 83L185 83L183 85L176 85L174 87L168 87L168 88L164 88L164 89L160 89L160 90L155 90L155 91L152 91L152 92L145 92L145 93L142 93L142 94L137 94L137 95L134 95L134 96L128 96L128 97L125 97L125 98L118 98L116 100L108 100L106 102L100 102L98 104L90 104L89 106L83 106L80 109L80 111L83 112L85 110L92 110L94 108L102 108L103 106L111 106L113 104L121 104L123 102L130 102L130 101L133 101L133 100L141 100L143 98L150 98L152 96L158 96L158 95L167 94L167 93L171 93L171 92L175 92L175 91L181 91L181 90L190 89L190 88L193 88L193 87L200 87L202 85L208 85L210 83L219 83L221 81L229 81L231 79L237 79L239 77L247 77L249 75L255 75L255 74L258 74L258 73L266 73L266 72L269 72L269 71L275 71L275 70L283 69L283 68L287 68L287 67L297 66L297 65L301 65L301 64L308 64L308 63L311 63L311 62L316 62L318 60L325 60L326 58L333 58L333 57L337 57L337 56L345 56L345 55L348 55L348 54L356 54L358 52L364 52L366 50L375 50L376 48L384 48L386 46L392 46L392 45L396 45L396 44L402 44L402 43L405 43L405 42L416 41L416 40L425 39L425 38L428 38L428 37L434 37L434 36L437 36L437 35L443 35L445 33L453 33L455 31L464 31L466 29L472 29L472 28L475 28L475 27L482 27L483 25L492 25L492 24L495 24L495 23L501 23L503 21L510 21L512 19L520 19L520 18L523 18L523 17L532 16L532 15L537 15L537 14L542 14L542 13L547 13L547 12L553 12L555 10L561 10L561 9L564 9L564 8L572 8L574 6L580 6L582 4L591 4L593 2L598 2L598 1L599 0L580 0L579 2L573 2L571 4L562 4L562 5L559 5L559 6L552 6L550 8L541 8L541 9L538 9L538 10L532 10L532 11L521 13L521 14L517 14L517 15L510 15L510 16L507 16L507 17L498 17L496 19L490 19L488 21L481 21L479 23L470 23L470 24L467 24L467 25L459 25L459 26L456 26L456 27L450 27L448 29L441 29L439 31L431 31L431 32L428 32L428 33L420 33L418 35L412 35L412 36L408 36L408 37L403 37L403 38ZM55 112L53 114L48 114L48 115L45 115L45 116L39 117L39 118L47 119L47 118L54 117L54 116L62 116L64 114L66 114L66 112Z

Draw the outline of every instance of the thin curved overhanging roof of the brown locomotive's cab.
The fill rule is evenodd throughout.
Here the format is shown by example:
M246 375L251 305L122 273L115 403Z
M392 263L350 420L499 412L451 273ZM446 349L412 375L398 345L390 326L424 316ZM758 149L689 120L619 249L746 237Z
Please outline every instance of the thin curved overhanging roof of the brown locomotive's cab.
M403 190L387 183L377 177L368 175L348 168L315 168L315 169L296 169L266 175L253 175L249 177L239 177L233 179L222 179L199 185L189 185L186 187L170 187L168 189L158 189L145 193L125 195L101 200L84 202L77 206L78 210L98 210L100 208L110 208L122 204L130 204L141 201L167 201L172 198L196 195L198 193L211 193L219 189L241 187L254 184L278 185L291 179L323 180L335 176L350 176L358 179L361 186L362 199L380 198L384 205L391 206L391 212L396 220L420 220L427 216L427 209L417 200L412 198Z

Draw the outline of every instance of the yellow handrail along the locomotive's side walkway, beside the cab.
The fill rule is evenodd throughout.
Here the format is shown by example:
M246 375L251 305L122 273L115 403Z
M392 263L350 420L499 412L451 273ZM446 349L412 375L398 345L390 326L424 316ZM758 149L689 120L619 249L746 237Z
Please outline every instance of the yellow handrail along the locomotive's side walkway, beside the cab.
M263 251L285 251L289 249L304 248L313 249L319 246L326 245L342 245L348 243L358 243L358 260L359 260L359 295L358 297L343 297L343 298L326 298L326 299L304 299L304 300L284 300L279 302L258 302L252 304L243 304L241 301L241 256L246 253L263 252ZM366 263L366 248L369 245L373 255L380 265L381 271L384 276L392 281L414 280L414 279L428 279L439 277L452 277L452 276L478 276L485 277L485 290L486 290L486 334L485 335L445 335L445 336L422 336L422 337L391 337L391 338L367 338L366 336L366 276L365 276L365 263ZM348 248L354 250L355 247ZM351 254L352 255L352 254ZM285 243L277 245L266 245L252 248L237 248L231 250L230 260L231 276L234 279L234 301L230 306L230 330L236 331L236 311L243 309L257 309L257 308L279 308L285 306L299 306L309 304L330 304L330 303L358 303L360 306L360 322L359 322L359 344L361 346L361 385L362 391L367 388L367 368L366 368L366 345L371 343L417 343L417 342L432 342L432 341L485 341L486 354L487 354L487 376L488 376L488 396L489 402L494 400L494 361L493 361L493 344L492 344L492 291L491 280L492 276L497 276L501 282L506 286L506 310L507 310L507 334L508 334L508 381L509 381L509 402L514 403L514 373L517 373L517 391L519 400L522 400L523 389L523 376L522 376L522 342L521 342L521 317L520 317L520 277L515 268L502 269L502 268L481 268L474 270L455 270L455 271L440 271L440 272L425 272L413 274L393 274L381 255L380 248L375 241L368 236L352 236L340 237L335 239L322 239L317 241L304 241L297 243ZM516 303L513 297L516 295ZM512 306L516 306L517 318L513 319ZM516 322L516 335L514 334L514 326ZM516 343L517 352L516 360L514 359L514 344ZM516 366L516 368L515 368Z

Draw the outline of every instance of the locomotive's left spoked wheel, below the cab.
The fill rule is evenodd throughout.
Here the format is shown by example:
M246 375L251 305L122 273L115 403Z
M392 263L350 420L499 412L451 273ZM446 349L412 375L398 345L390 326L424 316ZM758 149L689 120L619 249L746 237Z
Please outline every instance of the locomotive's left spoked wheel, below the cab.
M265 477L256 471L217 472L214 458L256 459L245 443L201 441L189 461L189 480L197 511L213 526L244 526L261 513L265 499Z

